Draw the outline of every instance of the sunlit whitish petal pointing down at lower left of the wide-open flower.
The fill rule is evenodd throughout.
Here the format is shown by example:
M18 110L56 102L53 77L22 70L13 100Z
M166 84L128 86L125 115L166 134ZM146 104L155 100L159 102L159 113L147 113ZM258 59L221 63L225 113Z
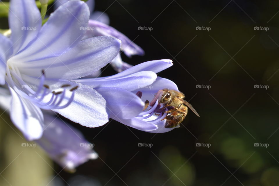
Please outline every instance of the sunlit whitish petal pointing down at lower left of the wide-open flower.
M12 88L10 117L27 140L37 140L42 136L44 117L42 111L28 100L21 98Z

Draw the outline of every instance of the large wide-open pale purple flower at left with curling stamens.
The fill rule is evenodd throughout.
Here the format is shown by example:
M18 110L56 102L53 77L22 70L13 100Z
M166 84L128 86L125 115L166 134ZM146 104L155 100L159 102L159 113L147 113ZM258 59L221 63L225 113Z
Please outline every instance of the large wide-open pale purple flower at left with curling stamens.
M89 14L83 1L72 0L42 26L35 1L10 1L11 35L0 35L0 83L9 87L11 120L27 140L42 136L41 109L88 127L108 122L101 94L71 81L98 71L119 53L121 42L116 38L81 40L85 31L80 28L87 26Z

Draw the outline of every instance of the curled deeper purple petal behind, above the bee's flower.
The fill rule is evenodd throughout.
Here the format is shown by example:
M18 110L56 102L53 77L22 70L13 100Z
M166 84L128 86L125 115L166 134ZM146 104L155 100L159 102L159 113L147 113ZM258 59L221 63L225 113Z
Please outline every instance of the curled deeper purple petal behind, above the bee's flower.
M92 19L89 20L88 27L94 29L87 30L85 38L110 35L122 41L121 51L124 51L126 56L131 57L133 55L144 55L144 51L141 47L136 45L128 37L117 31L115 28L112 28L111 26Z

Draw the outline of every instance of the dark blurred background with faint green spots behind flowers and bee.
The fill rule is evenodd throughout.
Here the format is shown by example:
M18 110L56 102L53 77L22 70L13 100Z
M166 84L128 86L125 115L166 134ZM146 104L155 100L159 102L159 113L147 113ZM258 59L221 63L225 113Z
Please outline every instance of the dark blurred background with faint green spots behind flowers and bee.
M74 174L54 164L69 185L279 185L278 1L116 0L96 1L95 10L105 11L111 26L144 49L144 56L122 54L125 62L174 61L159 76L174 81L201 117L189 112L180 128L162 134L116 121L99 128L73 124L100 158ZM102 75L114 73L108 67ZM67 185L62 178L51 184Z

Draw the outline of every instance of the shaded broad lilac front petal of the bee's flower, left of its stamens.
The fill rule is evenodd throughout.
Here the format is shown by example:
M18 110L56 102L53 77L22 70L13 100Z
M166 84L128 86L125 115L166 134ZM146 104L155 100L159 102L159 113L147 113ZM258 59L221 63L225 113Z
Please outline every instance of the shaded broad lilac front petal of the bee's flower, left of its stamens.
M131 119L142 112L143 101L127 90L115 87L101 87L96 90L105 98L112 119Z

